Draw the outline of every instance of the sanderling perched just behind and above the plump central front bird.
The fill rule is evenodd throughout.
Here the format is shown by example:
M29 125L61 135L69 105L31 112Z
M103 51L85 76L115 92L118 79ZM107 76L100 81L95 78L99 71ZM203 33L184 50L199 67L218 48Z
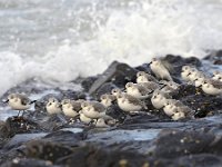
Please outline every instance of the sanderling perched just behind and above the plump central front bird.
M133 82L128 82L125 85L125 90L128 95L138 99L147 99L151 97L152 94L152 90L147 89L140 84L133 84Z

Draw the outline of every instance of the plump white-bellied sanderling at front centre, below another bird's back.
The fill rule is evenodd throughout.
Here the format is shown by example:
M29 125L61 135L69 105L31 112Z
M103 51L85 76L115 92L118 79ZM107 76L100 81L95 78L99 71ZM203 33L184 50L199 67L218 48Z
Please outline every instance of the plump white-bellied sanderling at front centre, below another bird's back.
M123 111L131 112L131 111L140 111L141 109L147 109L147 106L141 100L127 94L119 94L117 96L117 100L118 100L118 106Z

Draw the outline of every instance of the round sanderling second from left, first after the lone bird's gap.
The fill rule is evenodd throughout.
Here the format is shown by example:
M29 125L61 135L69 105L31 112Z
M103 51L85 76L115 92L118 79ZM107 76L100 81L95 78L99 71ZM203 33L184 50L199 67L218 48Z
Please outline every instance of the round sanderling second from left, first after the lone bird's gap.
M56 98L50 98L46 108L49 115L62 112L61 104Z

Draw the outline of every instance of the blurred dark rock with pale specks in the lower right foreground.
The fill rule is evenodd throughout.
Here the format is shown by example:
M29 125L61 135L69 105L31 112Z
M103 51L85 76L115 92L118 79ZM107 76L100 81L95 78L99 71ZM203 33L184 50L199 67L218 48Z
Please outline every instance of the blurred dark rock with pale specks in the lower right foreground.
M154 156L176 158L185 155L209 153L214 135L203 131L172 130L157 139Z

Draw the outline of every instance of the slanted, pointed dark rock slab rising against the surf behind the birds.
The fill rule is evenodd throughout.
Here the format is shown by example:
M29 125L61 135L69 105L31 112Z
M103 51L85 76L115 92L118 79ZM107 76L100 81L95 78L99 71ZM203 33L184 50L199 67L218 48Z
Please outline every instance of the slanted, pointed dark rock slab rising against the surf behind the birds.
M124 87L128 81L135 81L137 70L127 63L113 61L108 69L99 76L94 84L90 87L89 94L93 95L105 82L112 82L119 88Z

